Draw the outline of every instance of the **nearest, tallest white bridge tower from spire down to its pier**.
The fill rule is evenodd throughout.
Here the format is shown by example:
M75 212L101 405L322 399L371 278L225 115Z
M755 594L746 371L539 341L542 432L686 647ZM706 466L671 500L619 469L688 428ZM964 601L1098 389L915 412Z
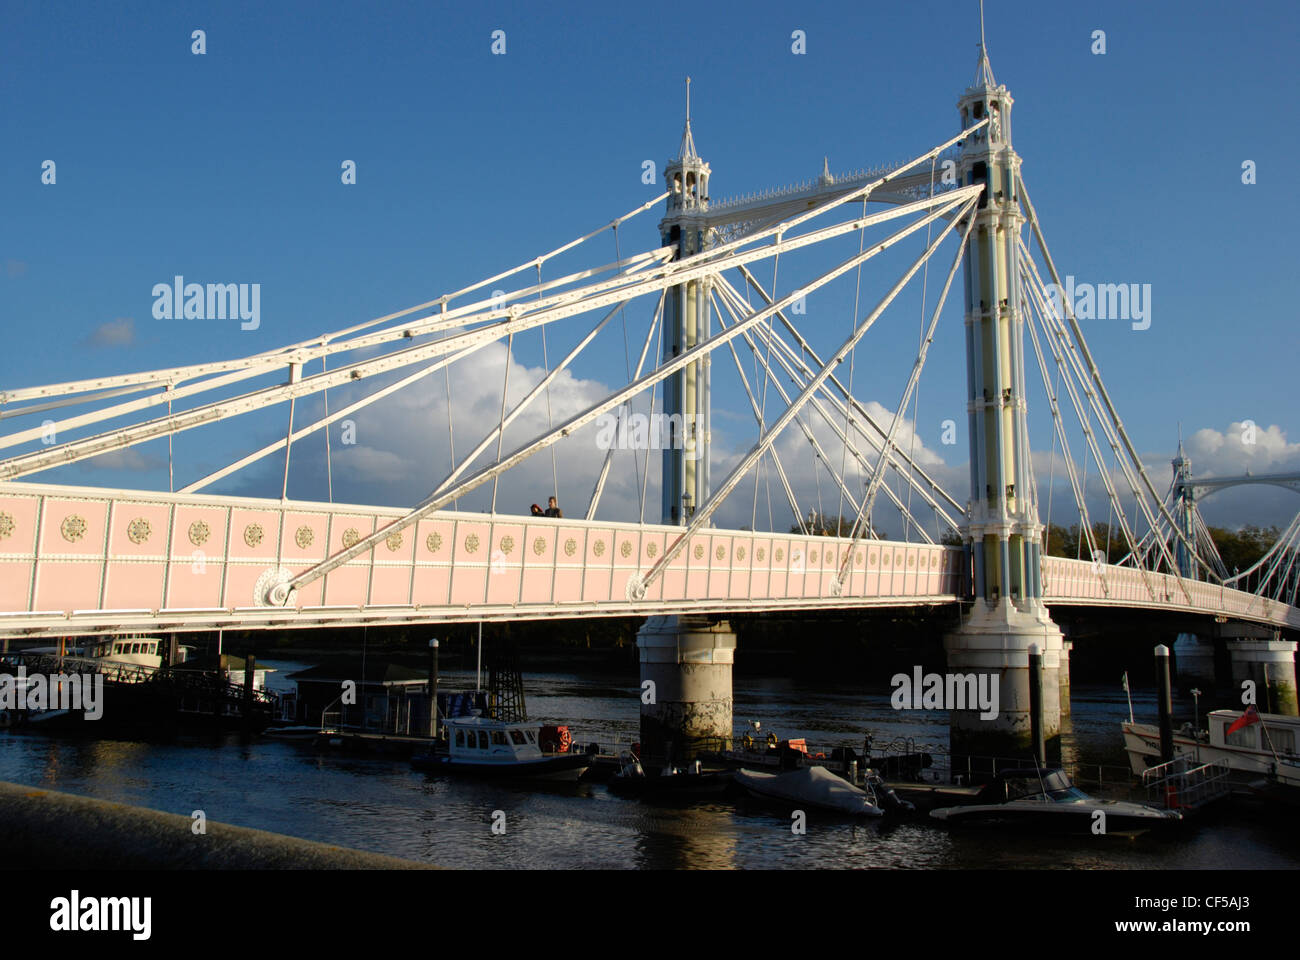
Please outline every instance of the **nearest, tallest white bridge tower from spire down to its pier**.
M1041 533L1030 462L1024 389L1024 313L1018 245L1024 216L1017 195L1020 157L1011 146L1010 92L993 78L983 5L975 78L957 103L966 138L958 170L983 183L965 264L967 418L971 498L963 540L972 604L948 637L949 667L1001 676L1000 715L953 713L953 749L1013 756L1030 740L1030 647L1043 654L1044 732L1060 732L1062 636L1043 604ZM978 749L976 749L978 748ZM1001 753L998 751L1002 751Z

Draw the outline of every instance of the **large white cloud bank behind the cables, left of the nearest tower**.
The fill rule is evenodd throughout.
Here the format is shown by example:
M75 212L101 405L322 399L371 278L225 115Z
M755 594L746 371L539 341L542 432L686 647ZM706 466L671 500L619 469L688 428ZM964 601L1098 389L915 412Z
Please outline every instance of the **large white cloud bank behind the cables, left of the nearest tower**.
M506 345L493 343L468 358L452 364L450 371L452 397L452 425L455 431L455 451L458 463L491 431L500 418L500 388L504 375ZM529 393L545 376L545 369L519 362L512 355L510 360L510 397L507 411ZM621 381L620 381L621 382ZM330 410L338 410L376 389L377 384L368 381L364 386L338 389L330 393ZM550 423L559 424L573 414L582 411L604 397L615 386L598 380L573 376L571 371L562 372L550 388ZM647 397L636 401L634 408L647 410ZM777 398L777 403L780 403ZM662 410L662 390L656 410ZM768 420L780 414L781 406L770 402ZM893 415L878 402L864 402L864 406L888 431ZM829 410L829 407L827 407ZM320 410L309 414L307 405L299 406L299 423L318 416ZM332 463L334 500L341 502L377 503L411 506L425 498L450 471L451 445L447 432L447 392L446 379L438 371L398 393L378 401L359 411L350 419L355 423L355 444L342 444L342 425L332 428ZM868 475L867 467L858 466L854 458L844 457L844 446L835 429L820 414L809 408L803 421L818 438L827 460L838 472L845 462L845 483L859 498L863 483ZM837 420L842 428L842 419ZM508 455L532 437L547 431L546 397L540 395L506 431L503 453ZM584 516L592 496L595 479L601 471L606 453L595 441L598 429L590 424L569 437L560 440L550 450L534 453L499 479L497 509L499 513L526 514L530 503L545 506L546 497L558 494L562 509L569 516ZM720 487L727 473L740 462L757 437L757 427L746 408L744 416L719 411L714 419L714 449L711 464L712 487ZM872 433L872 436L876 436ZM913 424L904 419L900 423L896 442L904 450L911 450L935 479L944 484L956 497L965 502L968 480L962 467L950 467L922 438L914 436ZM868 464L875 464L876 453L861 437L855 445L866 455ZM794 489L801 506L801 514L818 509L818 487L820 481L820 509L833 516L842 510L852 516L848 502L842 502L838 487L819 464L812 447L797 423L790 423L775 444L777 455ZM554 477L552 451L554 450ZM294 445L290 496L325 498L325 455L320 434L302 440ZM495 459L497 442L474 462L474 466L462 473L462 479ZM650 451L649 481L645 494L645 519L656 523L660 516L660 458L659 450ZM269 457L256 468L239 475L218 487L221 492L265 496L268 484L278 490L282 460ZM633 455L629 450L616 450L610 476L601 498L597 516L610 520L636 520L641 514L641 471L646 468L646 451ZM900 489L897 477L890 472L892 489ZM459 502L462 510L488 510L491 503L491 481L471 492ZM754 473L741 480L731 497L719 507L714 523L719 527L737 528L750 526L767 528L768 492L771 493L771 526L785 531L794 522L788 500L780 487L776 472L767 467L760 475L758 509L755 522ZM902 489L900 497L906 502L907 493ZM897 511L889 505L885 492L878 496L876 522L894 536L901 536L902 523ZM932 511L924 506L916 494L911 497L913 511L926 524L931 536L937 536ZM957 511L952 511L957 513ZM915 536L915 535L914 535Z

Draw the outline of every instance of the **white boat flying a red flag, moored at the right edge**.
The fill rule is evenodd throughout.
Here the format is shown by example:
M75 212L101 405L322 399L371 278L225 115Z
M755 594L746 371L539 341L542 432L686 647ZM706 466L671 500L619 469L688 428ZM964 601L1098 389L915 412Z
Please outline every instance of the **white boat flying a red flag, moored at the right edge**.
M1275 775L1279 764L1297 762L1296 743L1300 740L1300 717L1279 713L1258 713L1258 723L1247 723L1228 734L1243 710L1210 710L1206 715L1209 731L1192 730L1186 725L1174 731L1174 754L1191 754L1202 764L1223 761L1234 771L1235 779L1256 779ZM1122 723L1128 764L1139 777L1161 762L1160 727L1154 723Z

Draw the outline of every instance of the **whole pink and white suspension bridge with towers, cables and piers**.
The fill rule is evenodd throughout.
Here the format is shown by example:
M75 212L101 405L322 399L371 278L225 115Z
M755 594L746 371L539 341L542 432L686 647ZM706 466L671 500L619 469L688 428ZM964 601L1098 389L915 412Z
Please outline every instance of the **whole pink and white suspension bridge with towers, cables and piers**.
M949 665L998 671L1005 719L996 732L1023 738L1030 645L1044 653L1049 676L1067 669L1049 607L1150 609L1300 628L1300 515L1261 566L1230 575L1196 509L1197 492L1226 481L1193 481L1175 460L1173 485L1157 493L1079 319L1052 295L1061 276L1011 146L1011 105L982 39L952 138L904 163L844 176L823 164L807 182L714 202L688 81L685 129L664 168L664 191L514 269L252 356L5 389L0 636L646 615L642 675L656 678L662 696L644 713L671 738L710 723L729 735L734 637L720 619L728 613L959 605ZM656 208L658 245L624 254L629 224ZM610 239L612 260L599 254ZM920 241L901 271L872 274L879 298L862 302L872 260L914 251ZM853 310L828 341L831 325L814 329L803 307L836 285L852 290ZM967 496L927 471L914 434L902 440L954 285L965 304ZM904 290L918 287L918 347L896 412L881 416L861 398L863 379L854 381L868 363L858 347L878 320L900 312ZM629 343L638 316L647 317L645 332ZM511 351L533 332L542 372L511 384ZM562 377L620 332L625 379L594 402L558 403ZM554 362L547 333L571 345ZM495 415L468 438L462 423L458 434L455 373L502 346ZM612 369L601 366L606 379ZM724 371L753 415L755 437L729 458L714 449L712 397ZM1080 558L1049 557L1043 548L1041 477L1027 425L1035 371L1052 421L1052 483L1067 487L1078 509ZM404 507L337 502L332 427L439 380L443 408L432 415L446 418L450 457L428 496ZM302 410L312 412L306 421ZM173 457L181 434L266 411L285 414L281 437L220 468L190 479ZM606 442L581 516L498 509L511 471L546 454L552 472L559 458L584 462L611 418L621 418L624 431L638 411L660 418L662 449L633 442L625 454ZM291 500L291 455L313 434L325 447L329 496ZM836 535L816 529L824 515L792 483L792 447L777 444L790 436L815 463L818 501L827 481L846 511ZM165 492L31 480L162 441ZM264 497L213 492L268 463L282 463L281 483L268 484ZM1096 541L1089 467L1127 549L1118 563ZM602 496L616 475L640 514L602 519ZM1266 481L1297 487L1295 477L1238 480ZM572 505L577 481L566 483ZM775 488L789 509L779 523L784 509L768 506L766 531L760 487L768 505ZM659 510L647 520L651 492ZM746 492L753 523L716 526L724 505L744 506ZM459 509L476 496L481 509ZM884 514L902 524L902 539L881 532ZM1243 588L1248 583L1252 589ZM1058 709L1046 713L1050 735ZM959 728L974 736L978 722L954 717L954 736Z

